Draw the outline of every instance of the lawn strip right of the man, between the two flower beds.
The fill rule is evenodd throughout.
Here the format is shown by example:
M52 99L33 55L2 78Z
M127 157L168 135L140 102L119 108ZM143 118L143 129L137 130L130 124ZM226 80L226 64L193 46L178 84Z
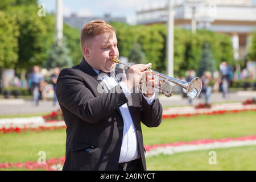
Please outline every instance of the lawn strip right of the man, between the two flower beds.
M255 111L246 111L164 119L158 127L142 127L144 144L256 135L255 118Z

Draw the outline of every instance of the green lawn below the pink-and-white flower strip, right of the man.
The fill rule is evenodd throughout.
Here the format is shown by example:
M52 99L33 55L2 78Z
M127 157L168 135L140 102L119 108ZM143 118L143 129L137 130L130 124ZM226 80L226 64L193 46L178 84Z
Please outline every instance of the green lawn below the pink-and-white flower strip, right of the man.
M218 148L216 164L209 164L209 151L183 152L174 155L158 155L146 158L147 169L153 171L172 170L256 170L256 146Z

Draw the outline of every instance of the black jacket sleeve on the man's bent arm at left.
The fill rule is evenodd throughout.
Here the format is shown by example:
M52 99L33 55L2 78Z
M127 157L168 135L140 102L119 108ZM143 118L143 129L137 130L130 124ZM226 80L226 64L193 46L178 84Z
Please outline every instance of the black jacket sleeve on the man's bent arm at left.
M114 93L113 89L119 89L121 92ZM77 117L85 122L97 123L128 102L121 86L117 85L112 90L95 97L79 73L68 68L60 72L56 96L59 103Z

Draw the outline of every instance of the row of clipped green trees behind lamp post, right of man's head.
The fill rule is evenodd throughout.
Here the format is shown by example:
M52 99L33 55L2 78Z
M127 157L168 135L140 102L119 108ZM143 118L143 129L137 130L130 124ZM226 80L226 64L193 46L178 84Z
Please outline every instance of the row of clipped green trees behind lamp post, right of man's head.
M137 42L146 55L147 63L152 63L152 69L166 73L166 25L129 26L118 22L111 24L117 32L118 49L121 56L128 57L134 42ZM199 68L205 41L209 43L213 59L216 60L215 69L222 61L226 61L229 65L234 64L232 41L229 35L207 30L197 30L196 34L192 34L189 30L175 27L175 76L184 76L188 69L197 70Z

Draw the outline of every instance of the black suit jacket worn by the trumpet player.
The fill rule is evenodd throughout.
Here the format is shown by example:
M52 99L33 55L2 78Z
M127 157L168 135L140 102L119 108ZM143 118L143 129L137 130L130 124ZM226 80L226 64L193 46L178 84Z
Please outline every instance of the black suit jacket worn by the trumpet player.
M146 170L141 122L148 127L160 125L159 100L148 105L141 93L126 98L119 84L108 90L97 77L82 59L79 65L63 69L57 79L56 95L67 125L63 170L117 170L123 137L123 119L118 108L125 103L137 133L141 169ZM105 93L97 89L104 89ZM121 92L113 93L113 89Z

